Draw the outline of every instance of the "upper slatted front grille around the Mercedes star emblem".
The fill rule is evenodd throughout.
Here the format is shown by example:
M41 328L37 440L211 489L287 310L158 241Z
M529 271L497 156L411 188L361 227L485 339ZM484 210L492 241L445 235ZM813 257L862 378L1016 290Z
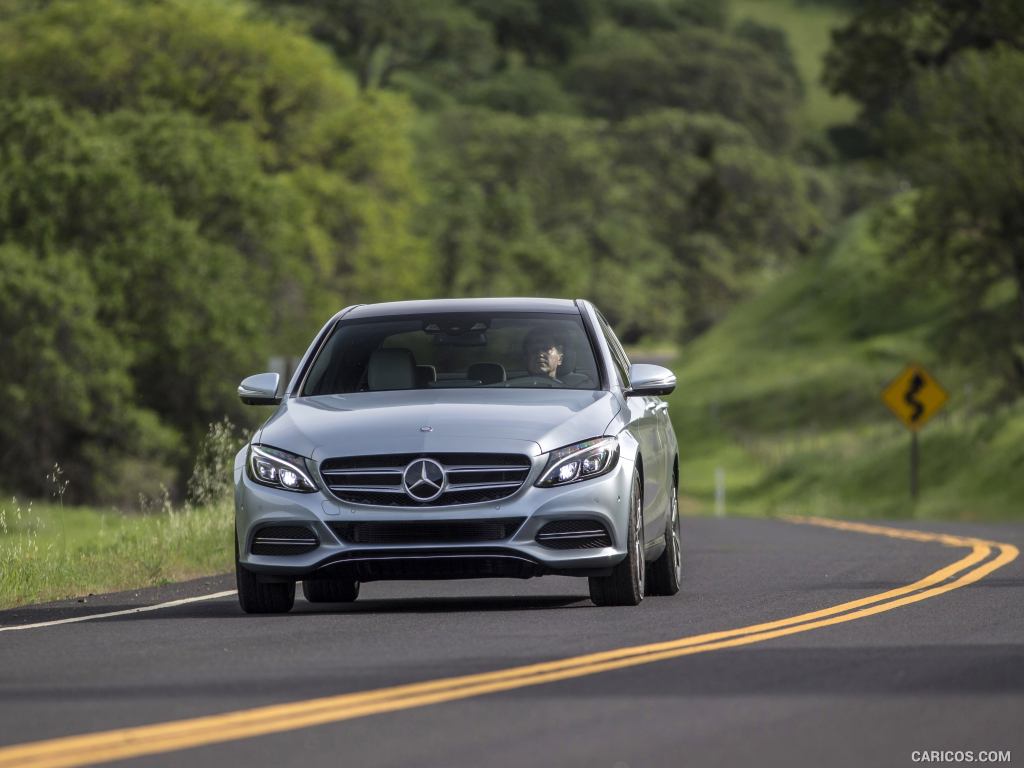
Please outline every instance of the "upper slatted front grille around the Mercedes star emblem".
M432 459L444 469L444 490L437 499L419 501L402 487L406 467L417 459ZM321 476L343 502L441 507L510 497L522 487L529 469L529 459L516 454L385 454L328 459L321 465Z

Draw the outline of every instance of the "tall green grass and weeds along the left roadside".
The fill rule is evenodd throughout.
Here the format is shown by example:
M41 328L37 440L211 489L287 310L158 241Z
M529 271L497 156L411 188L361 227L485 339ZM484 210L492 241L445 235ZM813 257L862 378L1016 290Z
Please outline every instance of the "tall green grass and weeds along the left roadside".
M211 426L188 501L140 500L141 513L0 502L0 608L155 586L233 566L231 459L240 438ZM54 474L59 482L59 466Z

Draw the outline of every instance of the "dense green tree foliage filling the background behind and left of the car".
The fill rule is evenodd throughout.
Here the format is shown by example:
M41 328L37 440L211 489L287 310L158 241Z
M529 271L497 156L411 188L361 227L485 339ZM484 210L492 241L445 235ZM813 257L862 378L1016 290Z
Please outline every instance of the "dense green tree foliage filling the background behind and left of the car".
M784 36L717 0L0 0L0 487L180 488L352 302L709 328L806 253Z

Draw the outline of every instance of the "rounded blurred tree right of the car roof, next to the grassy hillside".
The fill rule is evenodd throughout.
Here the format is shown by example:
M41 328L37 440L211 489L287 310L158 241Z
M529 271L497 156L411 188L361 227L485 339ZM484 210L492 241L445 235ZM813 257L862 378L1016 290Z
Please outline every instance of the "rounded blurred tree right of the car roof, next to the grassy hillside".
M631 204L681 274L687 336L720 319L752 278L799 258L831 216L827 181L724 118L664 110L614 135Z

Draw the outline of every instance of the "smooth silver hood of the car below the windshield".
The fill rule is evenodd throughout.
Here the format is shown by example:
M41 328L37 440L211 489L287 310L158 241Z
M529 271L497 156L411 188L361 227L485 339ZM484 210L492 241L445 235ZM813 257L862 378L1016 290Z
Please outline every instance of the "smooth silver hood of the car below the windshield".
M315 461L467 451L534 456L605 434L621 408L603 390L417 389L292 397L254 440Z

